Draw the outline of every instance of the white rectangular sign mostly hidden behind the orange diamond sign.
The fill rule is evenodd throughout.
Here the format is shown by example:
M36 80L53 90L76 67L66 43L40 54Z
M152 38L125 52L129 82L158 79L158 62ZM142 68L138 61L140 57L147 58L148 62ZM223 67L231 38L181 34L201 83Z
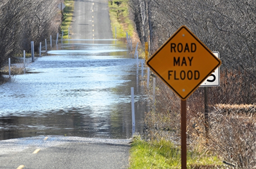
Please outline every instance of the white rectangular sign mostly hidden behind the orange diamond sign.
M212 52L219 59L219 52ZM219 86L219 67L208 77L204 82L201 83L200 87L203 86Z

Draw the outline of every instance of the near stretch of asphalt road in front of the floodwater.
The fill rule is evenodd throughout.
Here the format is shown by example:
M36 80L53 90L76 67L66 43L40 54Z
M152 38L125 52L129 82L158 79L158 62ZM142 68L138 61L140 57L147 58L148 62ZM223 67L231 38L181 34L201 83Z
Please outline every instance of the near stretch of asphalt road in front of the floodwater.
M129 139L40 136L0 141L0 169L128 168Z

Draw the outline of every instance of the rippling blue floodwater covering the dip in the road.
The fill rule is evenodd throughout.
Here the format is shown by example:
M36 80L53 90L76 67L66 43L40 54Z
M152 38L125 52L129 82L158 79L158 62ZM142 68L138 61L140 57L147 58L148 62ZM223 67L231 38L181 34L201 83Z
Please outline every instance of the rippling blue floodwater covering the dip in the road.
M0 86L0 140L38 135L127 139L143 131L141 68L115 40L69 40Z

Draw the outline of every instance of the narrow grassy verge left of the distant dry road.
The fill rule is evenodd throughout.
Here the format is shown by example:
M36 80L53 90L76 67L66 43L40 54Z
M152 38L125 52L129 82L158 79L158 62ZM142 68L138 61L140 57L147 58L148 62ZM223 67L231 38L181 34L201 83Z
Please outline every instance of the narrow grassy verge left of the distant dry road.
M64 4L66 7L63 10L63 19L61 23L61 31L63 30L64 32L63 39L68 39L69 37L69 26L71 24L72 17L73 17L74 3L75 3L74 0L64 1Z

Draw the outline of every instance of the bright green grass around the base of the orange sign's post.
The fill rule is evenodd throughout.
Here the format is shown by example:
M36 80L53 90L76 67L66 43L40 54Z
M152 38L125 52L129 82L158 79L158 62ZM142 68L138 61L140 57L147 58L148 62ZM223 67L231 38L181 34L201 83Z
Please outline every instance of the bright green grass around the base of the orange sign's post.
M187 151L187 169L221 168L222 162L216 156ZM139 137L133 140L130 149L129 169L180 169L180 146L171 141L146 142Z

